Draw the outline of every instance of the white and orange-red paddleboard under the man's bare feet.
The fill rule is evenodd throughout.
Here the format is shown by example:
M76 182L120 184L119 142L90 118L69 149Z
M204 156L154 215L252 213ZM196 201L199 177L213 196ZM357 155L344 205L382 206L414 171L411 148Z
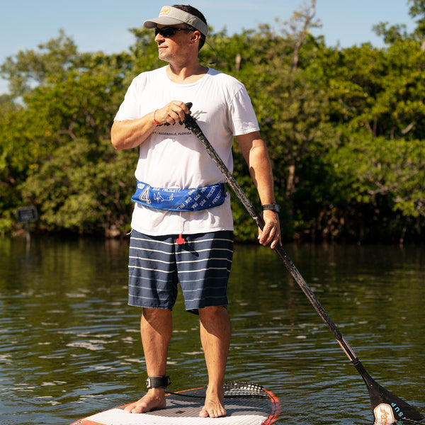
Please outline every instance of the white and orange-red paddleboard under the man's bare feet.
M132 414L124 406L80 419L71 425L271 425L280 414L280 402L271 391L251 382L225 382L221 418L200 418L206 387L166 395L166 408Z

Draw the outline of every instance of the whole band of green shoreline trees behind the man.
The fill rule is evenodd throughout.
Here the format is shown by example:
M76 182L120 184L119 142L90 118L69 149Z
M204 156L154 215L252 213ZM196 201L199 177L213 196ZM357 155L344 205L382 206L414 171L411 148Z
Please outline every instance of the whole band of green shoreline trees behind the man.
M417 27L378 23L385 48L329 47L310 33L314 4L227 35L211 31L201 59L248 89L268 142L284 241L421 242L425 233L425 1ZM275 28L276 27L276 28ZM290 29L288 29L290 28ZM115 152L113 117L133 77L164 66L152 32L114 55L79 52L62 31L0 67L0 234L23 232L16 211L38 210L32 232L130 230L137 149ZM212 48L213 47L213 48ZM237 145L234 176L258 205ZM256 225L232 194L235 237Z

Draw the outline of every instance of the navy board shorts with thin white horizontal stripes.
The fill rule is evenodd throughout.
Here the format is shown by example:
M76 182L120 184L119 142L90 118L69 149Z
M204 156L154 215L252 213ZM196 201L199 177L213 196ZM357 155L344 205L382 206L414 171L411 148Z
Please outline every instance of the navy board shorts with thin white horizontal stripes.
M132 230L128 262L128 304L172 310L178 283L186 310L227 307L233 232L149 236Z

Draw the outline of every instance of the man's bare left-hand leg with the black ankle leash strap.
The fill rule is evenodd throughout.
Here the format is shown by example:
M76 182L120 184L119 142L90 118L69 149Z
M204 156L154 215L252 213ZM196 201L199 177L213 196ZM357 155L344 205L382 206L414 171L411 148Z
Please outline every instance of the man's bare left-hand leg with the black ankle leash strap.
M171 328L171 310L143 309L140 333L142 334L148 376L164 376L166 374L166 356L171 339ZM164 407L164 389L150 388L144 397L125 407L125 411L143 413L164 409Z

